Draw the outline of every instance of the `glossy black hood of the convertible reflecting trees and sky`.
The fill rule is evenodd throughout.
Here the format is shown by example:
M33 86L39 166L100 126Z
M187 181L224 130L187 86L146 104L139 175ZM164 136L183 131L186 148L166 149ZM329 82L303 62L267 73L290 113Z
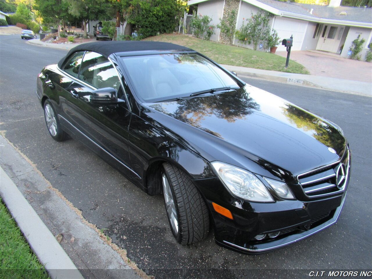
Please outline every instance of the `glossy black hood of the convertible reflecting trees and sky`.
M333 163L346 146L340 129L329 121L249 85L142 108L156 125L207 160L250 169L248 159L279 177Z

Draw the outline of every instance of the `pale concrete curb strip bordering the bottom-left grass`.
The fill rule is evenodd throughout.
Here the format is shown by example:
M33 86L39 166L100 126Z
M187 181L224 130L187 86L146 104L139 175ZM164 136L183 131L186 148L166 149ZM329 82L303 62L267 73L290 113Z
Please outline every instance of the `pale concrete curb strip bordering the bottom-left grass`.
M44 222L23 197L17 186L0 167L0 195L17 222L32 251L48 270L52 279L83 279L75 264L48 230Z

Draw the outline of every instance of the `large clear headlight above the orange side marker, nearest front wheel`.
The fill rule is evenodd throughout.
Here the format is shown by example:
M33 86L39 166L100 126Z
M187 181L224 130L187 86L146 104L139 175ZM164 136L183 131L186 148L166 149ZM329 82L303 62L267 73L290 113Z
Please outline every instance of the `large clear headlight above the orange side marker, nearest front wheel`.
M211 164L232 195L252 202L274 201L269 191L253 173L221 162Z

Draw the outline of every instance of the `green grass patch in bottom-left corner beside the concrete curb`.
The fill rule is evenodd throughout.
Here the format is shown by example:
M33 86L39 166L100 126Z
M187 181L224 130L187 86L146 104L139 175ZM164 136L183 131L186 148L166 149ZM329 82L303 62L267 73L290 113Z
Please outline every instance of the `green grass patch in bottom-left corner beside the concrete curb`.
M0 198L0 278L49 278Z

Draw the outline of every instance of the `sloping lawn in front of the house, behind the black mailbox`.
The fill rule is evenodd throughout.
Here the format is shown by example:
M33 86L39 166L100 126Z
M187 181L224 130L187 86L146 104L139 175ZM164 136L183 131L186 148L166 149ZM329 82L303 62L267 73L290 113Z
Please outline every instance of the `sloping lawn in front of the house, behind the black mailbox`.
M144 39L145 41L170 42L194 49L219 64L248 68L280 71L296 74L310 74L301 64L291 60L285 69L285 58L268 52L219 44L180 34L161 34ZM284 48L284 47L283 47Z

